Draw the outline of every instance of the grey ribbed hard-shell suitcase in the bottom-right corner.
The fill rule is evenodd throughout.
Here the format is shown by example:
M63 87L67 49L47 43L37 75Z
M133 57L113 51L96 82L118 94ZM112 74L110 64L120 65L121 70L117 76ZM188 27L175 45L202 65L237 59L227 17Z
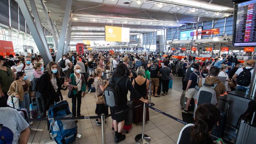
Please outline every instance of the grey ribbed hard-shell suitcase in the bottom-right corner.
M255 111L251 122L248 119L241 119L236 136L236 144L255 144L256 126L253 125Z

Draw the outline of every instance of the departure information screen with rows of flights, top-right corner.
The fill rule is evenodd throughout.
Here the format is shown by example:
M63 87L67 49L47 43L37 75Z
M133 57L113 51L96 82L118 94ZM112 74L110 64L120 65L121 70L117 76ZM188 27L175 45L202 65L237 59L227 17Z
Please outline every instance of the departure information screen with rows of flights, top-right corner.
M256 0L238 4L234 46L256 46Z

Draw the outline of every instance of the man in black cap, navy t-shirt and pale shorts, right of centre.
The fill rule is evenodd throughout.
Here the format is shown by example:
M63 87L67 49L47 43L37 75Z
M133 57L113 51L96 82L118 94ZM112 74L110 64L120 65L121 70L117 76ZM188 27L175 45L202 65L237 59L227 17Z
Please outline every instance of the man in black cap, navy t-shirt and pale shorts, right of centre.
M193 63L191 65L192 73L189 75L189 81L187 83L187 89L186 89L186 95L185 95L185 97L187 98L187 103L186 103L186 109L184 109L184 111L186 113L188 113L188 108L189 108L191 99L192 98L195 99L197 96L197 92L199 90L198 81L201 78L205 78L205 76L198 70L199 70L199 65L196 63Z

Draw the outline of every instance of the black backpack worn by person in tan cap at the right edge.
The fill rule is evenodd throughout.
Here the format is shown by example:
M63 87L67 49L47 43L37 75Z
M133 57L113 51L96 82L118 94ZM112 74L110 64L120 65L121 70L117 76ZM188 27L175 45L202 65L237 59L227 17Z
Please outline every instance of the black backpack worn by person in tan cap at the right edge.
M236 83L238 85L244 86L244 87L248 87L250 85L250 78L251 78L251 73L250 71L253 68L243 68L243 72L241 72L238 76L237 76L237 81Z

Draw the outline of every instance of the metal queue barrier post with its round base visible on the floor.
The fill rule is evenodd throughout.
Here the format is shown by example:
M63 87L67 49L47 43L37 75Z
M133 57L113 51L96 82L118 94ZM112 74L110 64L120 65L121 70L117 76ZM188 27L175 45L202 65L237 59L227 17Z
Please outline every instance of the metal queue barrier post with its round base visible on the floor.
M135 142L137 144L149 144L151 142L150 137L145 135L145 122L146 122L146 103L144 103L143 107L143 123L142 123L142 132L139 135L136 135Z

